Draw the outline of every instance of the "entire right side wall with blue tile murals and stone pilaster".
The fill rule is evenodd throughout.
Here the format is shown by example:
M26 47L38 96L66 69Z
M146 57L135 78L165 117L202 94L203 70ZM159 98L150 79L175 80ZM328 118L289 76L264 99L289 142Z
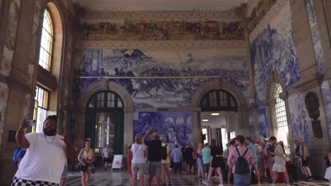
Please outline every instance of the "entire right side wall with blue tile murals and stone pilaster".
M323 8L327 8L324 1L248 1L249 25L255 26L249 30L249 39L255 101L258 105L252 111L258 113L255 118L260 126L258 133L261 138L276 135L271 87L274 83L283 84L281 99L284 99L286 105L291 149L296 137L302 137L312 147L312 165L318 165L312 166L316 177L323 176L323 170L318 167L325 166L323 157L330 149L327 116L330 93L328 82L323 82L329 79L325 58L329 57L327 51L330 49L321 39L330 37L325 34L327 20L320 13L325 11ZM318 95L318 120L323 130L322 138L316 136L313 119L306 109L305 98L308 92ZM266 116L269 118L266 119Z

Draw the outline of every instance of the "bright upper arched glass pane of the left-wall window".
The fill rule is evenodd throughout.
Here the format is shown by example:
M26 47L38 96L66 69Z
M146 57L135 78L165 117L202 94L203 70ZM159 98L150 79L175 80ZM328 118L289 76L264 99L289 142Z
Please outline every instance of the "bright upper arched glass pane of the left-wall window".
M52 65L52 49L54 44L54 27L50 12L45 9L42 21L42 37L40 42L39 65L50 71Z

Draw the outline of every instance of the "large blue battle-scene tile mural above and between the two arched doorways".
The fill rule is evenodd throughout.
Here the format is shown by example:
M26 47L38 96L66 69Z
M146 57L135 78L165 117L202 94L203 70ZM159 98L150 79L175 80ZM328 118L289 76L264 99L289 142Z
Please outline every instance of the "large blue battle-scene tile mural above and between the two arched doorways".
M190 107L200 86L214 76L226 75L223 80L236 85L248 98L245 51L79 50L76 57L79 64L74 74L74 90L78 94L101 77L132 77L112 81L127 89L134 106Z

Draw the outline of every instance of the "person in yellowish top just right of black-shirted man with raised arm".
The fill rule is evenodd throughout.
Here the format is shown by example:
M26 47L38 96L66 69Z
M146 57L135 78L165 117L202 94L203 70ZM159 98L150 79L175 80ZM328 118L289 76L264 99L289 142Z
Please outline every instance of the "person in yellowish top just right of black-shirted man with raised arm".
M162 141L162 150L161 150L161 163L162 163L162 176L163 182L162 185L165 184L165 174L168 177L168 185L171 185L170 182L170 147L166 144L165 137L161 138Z

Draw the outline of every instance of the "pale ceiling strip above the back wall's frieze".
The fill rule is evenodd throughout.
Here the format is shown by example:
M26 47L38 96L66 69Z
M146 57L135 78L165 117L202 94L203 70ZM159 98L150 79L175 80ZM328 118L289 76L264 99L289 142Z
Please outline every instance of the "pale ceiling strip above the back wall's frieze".
M71 0L88 11L228 11L248 0Z

